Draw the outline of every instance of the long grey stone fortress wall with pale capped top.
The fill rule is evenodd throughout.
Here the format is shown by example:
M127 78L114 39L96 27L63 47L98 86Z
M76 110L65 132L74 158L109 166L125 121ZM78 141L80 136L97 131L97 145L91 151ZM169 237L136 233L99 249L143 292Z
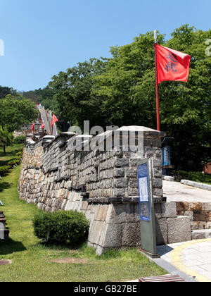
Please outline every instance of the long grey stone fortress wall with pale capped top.
M141 132L143 154L124 151L128 132ZM63 132L38 142L27 139L18 183L20 198L37 204L43 211L76 210L90 221L89 245L97 254L117 247L141 246L137 161L151 158L155 200L157 244L191 240L188 216L177 216L176 202L167 203L162 192L161 138L164 132L144 127L123 127L120 147L100 151L103 134L93 149L87 149L89 136L81 135L82 151L71 151L75 134ZM107 135L107 134L106 134ZM115 132L110 132L113 143ZM86 151L88 150L88 151Z

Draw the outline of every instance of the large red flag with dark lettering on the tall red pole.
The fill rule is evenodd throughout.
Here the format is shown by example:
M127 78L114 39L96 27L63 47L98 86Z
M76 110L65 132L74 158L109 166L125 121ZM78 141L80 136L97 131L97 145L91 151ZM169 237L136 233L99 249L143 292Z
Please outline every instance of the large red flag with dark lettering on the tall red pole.
M180 51L161 47L157 49L158 84L162 81L188 81L191 56Z

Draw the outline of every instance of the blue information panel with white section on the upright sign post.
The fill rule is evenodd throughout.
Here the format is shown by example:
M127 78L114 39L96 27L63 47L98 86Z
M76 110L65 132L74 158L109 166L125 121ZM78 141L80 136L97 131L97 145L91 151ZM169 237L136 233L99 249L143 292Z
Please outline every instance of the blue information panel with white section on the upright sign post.
M142 221L151 221L151 204L148 180L148 165L141 164L137 168L139 188L139 213Z

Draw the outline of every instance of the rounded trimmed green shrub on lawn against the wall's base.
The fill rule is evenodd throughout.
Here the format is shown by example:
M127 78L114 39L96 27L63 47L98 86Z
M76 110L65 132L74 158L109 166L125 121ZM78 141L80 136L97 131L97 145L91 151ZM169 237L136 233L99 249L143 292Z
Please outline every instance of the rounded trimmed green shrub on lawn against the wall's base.
M37 238L55 245L79 245L89 232L89 221L77 211L41 212L32 223Z

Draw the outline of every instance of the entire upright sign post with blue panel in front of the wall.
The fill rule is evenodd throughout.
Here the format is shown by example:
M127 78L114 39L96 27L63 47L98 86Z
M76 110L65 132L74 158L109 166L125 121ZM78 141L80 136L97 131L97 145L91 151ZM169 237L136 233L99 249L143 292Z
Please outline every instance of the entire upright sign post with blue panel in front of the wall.
M156 252L155 212L153 202L151 159L138 162L139 213L141 218L141 252L159 258Z

